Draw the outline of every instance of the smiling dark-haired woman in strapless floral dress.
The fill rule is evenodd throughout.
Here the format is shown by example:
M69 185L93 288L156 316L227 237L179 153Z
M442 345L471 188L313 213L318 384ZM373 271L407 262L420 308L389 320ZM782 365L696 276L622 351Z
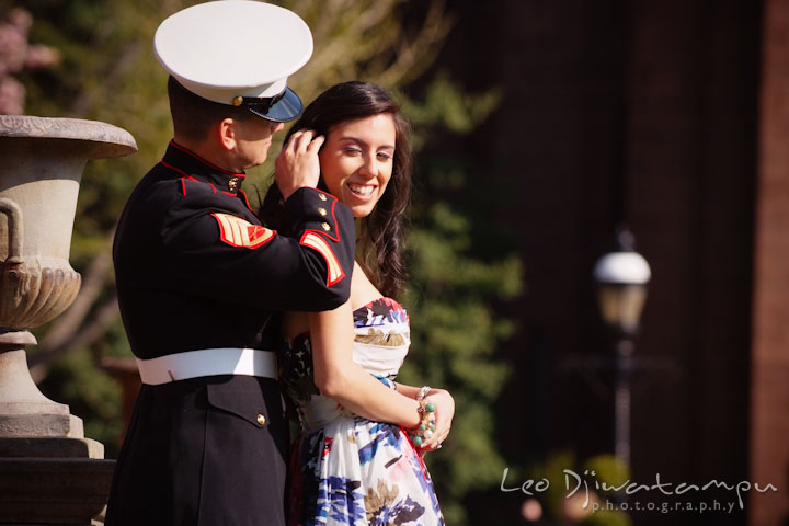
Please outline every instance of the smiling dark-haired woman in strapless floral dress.
M409 315L395 299L405 279L409 132L385 90L346 82L305 110L283 150L324 137L319 187L362 225L348 302L284 316L279 381L301 425L288 473L294 525L444 524L422 455L441 447L455 402L443 389L395 382L411 342ZM283 225L271 222L278 194L274 185L261 210L270 228ZM311 236L335 236L324 230Z

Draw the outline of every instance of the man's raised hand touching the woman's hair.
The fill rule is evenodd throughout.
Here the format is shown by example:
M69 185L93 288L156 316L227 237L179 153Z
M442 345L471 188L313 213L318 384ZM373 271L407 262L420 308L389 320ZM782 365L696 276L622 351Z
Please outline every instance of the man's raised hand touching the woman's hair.
M315 137L311 129L301 129L283 147L274 163L274 176L285 201L298 188L318 186L318 150L324 140L322 135Z

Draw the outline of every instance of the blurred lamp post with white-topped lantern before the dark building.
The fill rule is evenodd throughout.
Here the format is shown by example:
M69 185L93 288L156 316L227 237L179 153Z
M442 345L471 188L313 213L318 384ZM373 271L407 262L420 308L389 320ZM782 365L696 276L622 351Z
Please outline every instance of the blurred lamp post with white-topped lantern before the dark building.
M614 393L614 453L630 465L630 374L633 369L633 339L647 299L651 271L634 251L634 238L627 228L617 231L617 249L603 255L594 268L597 297L605 323L616 338L616 385Z

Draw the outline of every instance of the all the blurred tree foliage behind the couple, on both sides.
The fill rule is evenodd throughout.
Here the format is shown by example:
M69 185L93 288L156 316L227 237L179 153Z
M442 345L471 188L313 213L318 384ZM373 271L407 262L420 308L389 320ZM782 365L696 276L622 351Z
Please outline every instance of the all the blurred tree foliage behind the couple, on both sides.
M103 357L130 355L114 290L112 235L132 188L159 160L172 135L167 75L153 56L153 33L164 18L194 3L38 0L24 5L33 15L31 39L60 54L57 67L16 75L27 89L25 113L112 123L129 130L139 147L128 158L88 164L71 252L83 287L64 316L36 330L39 345L30 350L42 390L69 403L85 420L88 436L107 446L108 457L117 453L122 427L119 392L98 364ZM339 81L370 80L397 91L414 124L420 174L411 214L411 283L404 298L412 313L413 351L401 379L446 387L456 398L453 434L427 461L448 523L468 524L464 495L495 487L504 467L491 408L508 376L507 365L496 357L496 344L514 327L495 316L491 302L519 293L521 267L515 256L490 247L489 210L479 207L487 191L470 184L468 160L447 151L443 138L472 132L493 111L498 95L465 93L441 73L421 79L426 88L419 93L409 92L450 31L451 16L441 0L276 3L299 13L313 32L313 57L289 79L305 101ZM14 4L0 0L0 15ZM277 149L275 145L272 151ZM271 161L252 170L247 184L264 192ZM248 193L254 194L254 187ZM162 330L179 328L163 324Z

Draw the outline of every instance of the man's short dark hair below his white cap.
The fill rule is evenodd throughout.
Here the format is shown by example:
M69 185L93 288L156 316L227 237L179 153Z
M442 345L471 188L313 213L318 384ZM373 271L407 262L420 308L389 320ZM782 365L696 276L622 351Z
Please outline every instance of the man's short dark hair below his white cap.
M173 128L178 137L204 139L214 124L228 117L235 121L261 118L244 107L203 99L181 85L172 76L168 79L168 95Z

